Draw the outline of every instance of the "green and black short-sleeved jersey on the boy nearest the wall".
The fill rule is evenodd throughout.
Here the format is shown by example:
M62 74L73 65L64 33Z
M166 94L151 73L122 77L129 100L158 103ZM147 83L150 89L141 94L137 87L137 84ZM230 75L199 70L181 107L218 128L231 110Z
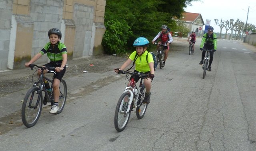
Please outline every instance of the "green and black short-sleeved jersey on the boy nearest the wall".
M56 47L58 45L58 47ZM61 61L63 60L62 54L67 53L67 48L64 43L58 42L55 47L51 45L50 42L46 43L43 49L40 51L42 55L47 53L47 57L50 61Z

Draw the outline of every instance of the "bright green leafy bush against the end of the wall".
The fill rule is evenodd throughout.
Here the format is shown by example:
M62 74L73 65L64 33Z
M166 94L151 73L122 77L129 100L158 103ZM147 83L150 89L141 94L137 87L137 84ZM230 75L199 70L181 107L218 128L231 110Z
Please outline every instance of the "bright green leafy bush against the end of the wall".
M106 32L102 45L106 54L120 54L126 52L126 43L132 31L125 20L109 20L105 22Z

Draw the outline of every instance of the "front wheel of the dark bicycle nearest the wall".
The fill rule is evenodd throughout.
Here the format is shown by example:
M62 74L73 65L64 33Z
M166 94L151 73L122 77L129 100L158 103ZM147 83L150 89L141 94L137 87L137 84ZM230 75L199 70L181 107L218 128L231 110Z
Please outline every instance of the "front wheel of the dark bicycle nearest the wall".
M42 96L42 92L39 92L39 91L40 91L40 88L38 87L30 88L23 100L21 118L24 126L28 128L36 124L42 111L43 96ZM38 94L36 95L37 97L35 96L35 94ZM38 106L36 106L37 102L38 102Z

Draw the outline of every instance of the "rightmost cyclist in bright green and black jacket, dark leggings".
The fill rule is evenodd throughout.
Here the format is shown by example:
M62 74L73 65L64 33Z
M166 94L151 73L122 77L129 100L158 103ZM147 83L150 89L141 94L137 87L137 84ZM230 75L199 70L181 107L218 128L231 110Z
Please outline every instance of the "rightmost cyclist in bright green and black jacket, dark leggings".
M201 61L199 63L199 65L202 65L204 63L204 57L205 57L205 53L206 51L203 51L204 49L206 50L217 50L217 38L216 38L216 34L213 33L213 27L210 26L208 27L208 32L204 34L203 38L202 38L202 42L200 45L200 50L202 51L202 58ZM209 61L209 67L208 67L208 71L212 71L212 61L213 61L213 52L214 51L210 51L210 61Z

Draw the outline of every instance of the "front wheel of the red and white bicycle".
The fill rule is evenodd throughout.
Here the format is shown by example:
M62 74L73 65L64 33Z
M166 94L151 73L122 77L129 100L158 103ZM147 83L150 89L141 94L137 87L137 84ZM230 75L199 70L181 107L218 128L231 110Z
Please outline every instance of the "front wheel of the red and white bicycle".
M130 92L123 93L116 105L115 117L114 117L114 125L116 131L120 132L125 129L128 124L130 118L130 111L126 114L128 108L128 102L124 102L125 99L129 101Z

